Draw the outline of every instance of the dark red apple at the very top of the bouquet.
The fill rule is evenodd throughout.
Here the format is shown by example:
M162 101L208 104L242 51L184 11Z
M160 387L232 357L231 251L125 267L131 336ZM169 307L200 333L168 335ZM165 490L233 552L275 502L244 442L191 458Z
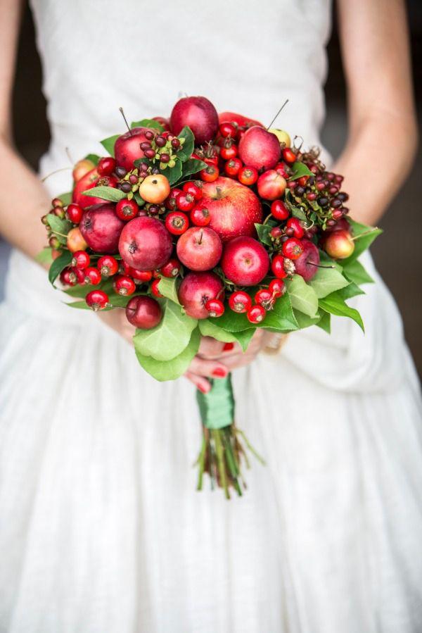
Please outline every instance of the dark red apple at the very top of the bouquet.
M218 130L218 114L211 101L205 96L186 96L179 99L170 115L170 126L174 134L179 134L188 125L195 136L195 144L203 145L211 141Z

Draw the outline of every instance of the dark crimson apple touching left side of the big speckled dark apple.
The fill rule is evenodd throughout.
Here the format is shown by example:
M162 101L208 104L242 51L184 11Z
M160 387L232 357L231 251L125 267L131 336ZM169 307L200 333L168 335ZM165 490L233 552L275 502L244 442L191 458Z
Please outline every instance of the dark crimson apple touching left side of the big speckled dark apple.
M117 218L115 205L110 202L94 204L84 215L79 228L90 249L96 253L117 253L119 237L124 227Z

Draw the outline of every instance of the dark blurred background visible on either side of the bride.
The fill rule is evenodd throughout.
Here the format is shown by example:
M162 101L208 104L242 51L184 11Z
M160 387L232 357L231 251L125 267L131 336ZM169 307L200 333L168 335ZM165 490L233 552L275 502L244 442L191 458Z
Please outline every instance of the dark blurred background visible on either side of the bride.
M414 85L418 119L422 121L422 2L409 0L409 25L414 67ZM326 125L323 142L333 156L338 156L346 139L345 83L340 47L335 26L328 44L330 70L326 83ZM30 99L29 99L30 96ZM30 101L30 108L28 102ZM41 68L34 42L34 25L28 8L25 10L18 51L18 70L13 94L15 143L27 161L37 168L39 157L49 144L46 104L41 94ZM420 126L421 127L421 126ZM394 134L394 130L392 130ZM378 270L390 287L402 312L404 329L422 376L422 148L412 173L386 213L381 227L384 234L373 246ZM388 174L385 175L388 177ZM395 251L399 245L399 252ZM0 239L0 300L8 261L8 246Z

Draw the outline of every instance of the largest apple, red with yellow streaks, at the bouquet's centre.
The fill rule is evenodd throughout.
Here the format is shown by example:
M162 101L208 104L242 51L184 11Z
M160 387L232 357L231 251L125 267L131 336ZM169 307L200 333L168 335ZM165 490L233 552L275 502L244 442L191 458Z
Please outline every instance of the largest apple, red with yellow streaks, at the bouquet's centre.
M219 234L222 242L240 235L255 235L255 223L262 221L258 197L249 187L231 178L204 182L198 206L208 209L211 218L208 227Z

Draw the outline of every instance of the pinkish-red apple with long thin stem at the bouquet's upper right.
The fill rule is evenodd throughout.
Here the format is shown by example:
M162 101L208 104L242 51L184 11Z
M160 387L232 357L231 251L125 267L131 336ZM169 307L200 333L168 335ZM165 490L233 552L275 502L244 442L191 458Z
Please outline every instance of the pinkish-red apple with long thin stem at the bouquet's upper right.
M279 139L263 127L250 127L241 138L239 157L247 167L271 169L279 162L281 149Z

